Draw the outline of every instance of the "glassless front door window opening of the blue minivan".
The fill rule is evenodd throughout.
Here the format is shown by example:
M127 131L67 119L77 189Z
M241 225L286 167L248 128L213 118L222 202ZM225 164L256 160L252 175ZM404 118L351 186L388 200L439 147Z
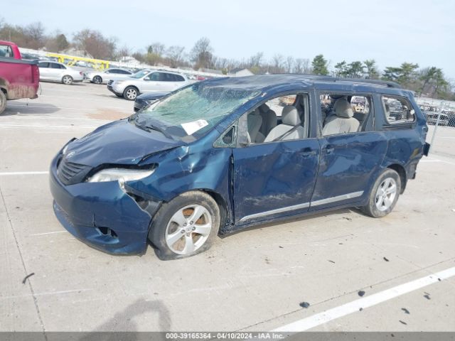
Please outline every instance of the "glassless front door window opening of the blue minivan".
M269 99L239 119L239 144L248 146L305 139L309 131L309 96L285 94Z

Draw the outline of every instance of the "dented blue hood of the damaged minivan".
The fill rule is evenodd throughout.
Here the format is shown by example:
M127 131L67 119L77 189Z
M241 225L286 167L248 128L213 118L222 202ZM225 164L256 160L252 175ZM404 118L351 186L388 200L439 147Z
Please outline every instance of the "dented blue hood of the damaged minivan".
M167 139L159 131L144 131L126 119L100 126L68 145L68 162L97 167L105 163L134 165L144 156L183 146L182 141Z

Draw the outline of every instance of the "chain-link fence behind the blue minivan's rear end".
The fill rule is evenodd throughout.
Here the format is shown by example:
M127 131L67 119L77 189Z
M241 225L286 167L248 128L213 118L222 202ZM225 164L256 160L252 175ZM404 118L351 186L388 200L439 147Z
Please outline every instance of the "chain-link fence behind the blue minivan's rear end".
M430 153L455 158L455 102L426 97L416 102L427 118Z

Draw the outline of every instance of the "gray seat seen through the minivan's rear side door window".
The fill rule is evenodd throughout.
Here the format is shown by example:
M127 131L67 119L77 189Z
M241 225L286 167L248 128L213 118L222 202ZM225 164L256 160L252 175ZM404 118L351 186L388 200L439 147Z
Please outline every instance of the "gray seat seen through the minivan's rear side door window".
M346 99L338 99L333 106L335 114L327 117L322 129L323 135L345 134L358 131L359 121L353 118L353 109Z

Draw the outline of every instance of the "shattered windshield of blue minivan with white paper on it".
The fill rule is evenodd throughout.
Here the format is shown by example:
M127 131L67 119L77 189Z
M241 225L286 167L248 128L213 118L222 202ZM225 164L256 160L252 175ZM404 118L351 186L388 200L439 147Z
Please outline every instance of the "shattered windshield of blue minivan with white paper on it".
M138 112L134 123L144 130L161 131L172 139L194 141L258 94L259 90L196 83Z

